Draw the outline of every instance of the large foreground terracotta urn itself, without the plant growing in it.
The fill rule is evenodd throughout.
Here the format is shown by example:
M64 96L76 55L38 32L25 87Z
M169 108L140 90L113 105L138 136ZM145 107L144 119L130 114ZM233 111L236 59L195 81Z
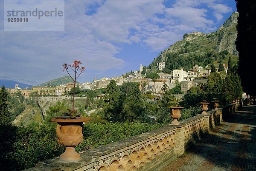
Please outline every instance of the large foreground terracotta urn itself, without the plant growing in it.
M89 121L89 118L81 117L79 119L61 119L52 118L51 121L57 122L56 133L58 143L65 146L66 150L60 155L62 161L77 161L80 154L75 151L84 139L82 134L83 122Z

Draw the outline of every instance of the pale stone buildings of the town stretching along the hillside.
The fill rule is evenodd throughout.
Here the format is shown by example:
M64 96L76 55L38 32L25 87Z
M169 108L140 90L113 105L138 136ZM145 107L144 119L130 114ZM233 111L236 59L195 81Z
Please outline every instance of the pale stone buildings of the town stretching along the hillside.
M227 73L227 65L223 64L225 72ZM122 76L116 76L113 78L94 78L93 82L84 82L81 84L77 84L81 91L87 90L96 90L96 89L104 89L108 86L111 80L116 81L117 85L122 85L125 82L137 82L139 83L139 89L143 94L147 92L154 92L154 95L160 96L162 94L161 88L163 88L164 84L166 84L169 89L175 87L176 83L180 83L180 91L183 94L186 94L187 90L191 87L196 87L200 83L206 83L207 77L210 75L211 70L208 67L204 69L204 67L195 64L193 69L185 71L183 68L174 69L172 73L163 73L163 69L165 68L165 62L157 63L157 70L160 71L157 74L160 78L156 79L154 82L150 78L145 78L145 74L143 72L143 65L140 64L140 70L133 71L128 76L123 74ZM216 68L218 71L218 68ZM31 90L26 87L26 89L21 89L19 84L15 84L15 88L8 88L10 95L14 95L18 90L21 91L21 94L24 97L29 97L32 92L37 92L38 95L41 96L64 96L70 92L70 90L74 87L73 83L68 84L60 84L58 86L35 86L31 87Z

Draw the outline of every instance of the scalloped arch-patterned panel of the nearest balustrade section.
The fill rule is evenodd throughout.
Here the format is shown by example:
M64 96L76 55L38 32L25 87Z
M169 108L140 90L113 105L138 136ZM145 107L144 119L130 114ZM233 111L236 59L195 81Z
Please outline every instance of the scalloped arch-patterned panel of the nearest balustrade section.
M98 163L97 171L132 171L142 168L154 158L175 148L175 131L136 146L132 149L105 159L105 163ZM107 162L109 161L109 162ZM101 161L99 161L101 162Z

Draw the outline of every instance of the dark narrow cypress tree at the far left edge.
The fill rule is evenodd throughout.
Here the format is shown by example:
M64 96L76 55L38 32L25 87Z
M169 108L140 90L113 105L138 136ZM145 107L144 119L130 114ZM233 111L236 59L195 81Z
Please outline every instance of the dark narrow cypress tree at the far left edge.
M12 121L7 104L8 95L8 91L2 86L0 90L0 125L9 125Z

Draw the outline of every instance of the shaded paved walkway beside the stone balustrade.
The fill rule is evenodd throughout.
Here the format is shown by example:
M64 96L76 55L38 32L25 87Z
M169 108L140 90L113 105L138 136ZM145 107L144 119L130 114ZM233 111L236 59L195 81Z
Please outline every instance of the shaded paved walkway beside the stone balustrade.
M256 171L256 106L245 106L163 171Z

